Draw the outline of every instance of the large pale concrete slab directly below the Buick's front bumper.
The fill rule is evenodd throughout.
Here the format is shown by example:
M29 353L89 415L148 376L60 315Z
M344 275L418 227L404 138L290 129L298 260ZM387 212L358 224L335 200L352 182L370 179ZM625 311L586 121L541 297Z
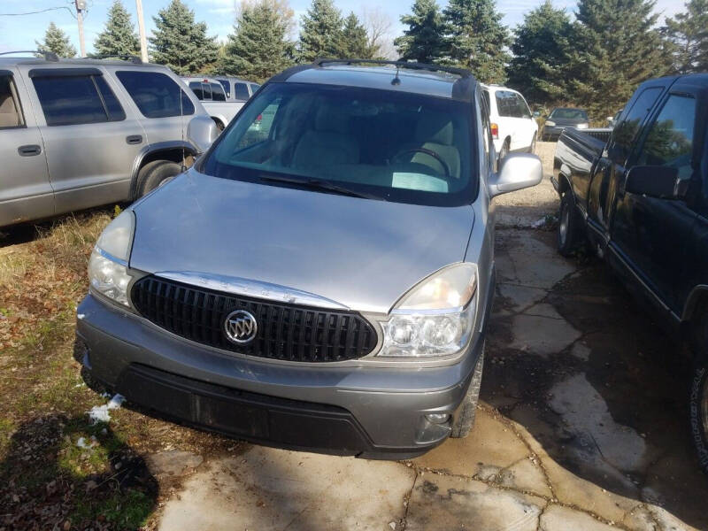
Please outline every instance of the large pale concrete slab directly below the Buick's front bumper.
M215 459L165 504L159 529L373 529L404 517L412 468L252 447Z

